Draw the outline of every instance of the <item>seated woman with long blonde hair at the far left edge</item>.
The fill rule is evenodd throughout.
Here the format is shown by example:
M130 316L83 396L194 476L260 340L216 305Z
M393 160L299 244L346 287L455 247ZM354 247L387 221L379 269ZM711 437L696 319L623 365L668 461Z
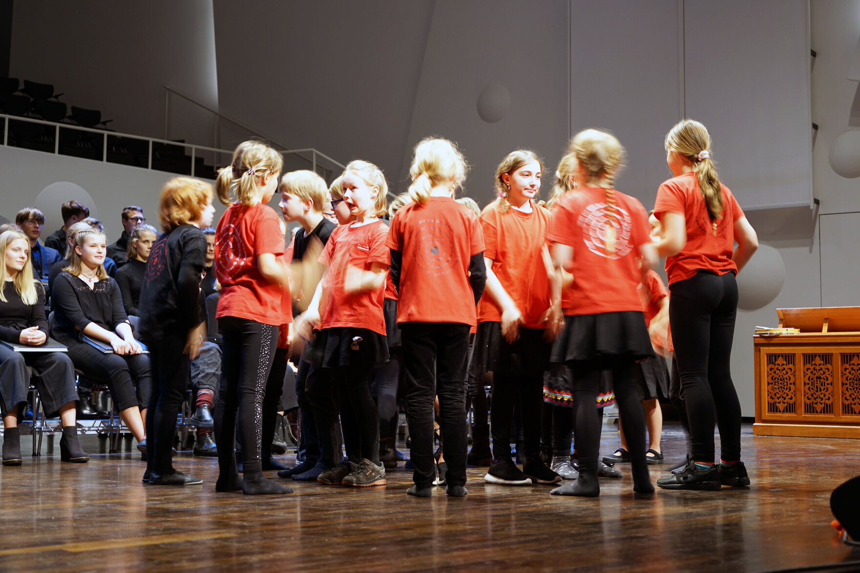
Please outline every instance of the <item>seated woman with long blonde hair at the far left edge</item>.
M0 341L38 347L47 341L45 291L33 277L29 240L20 231L0 234ZM63 437L61 459L89 461L77 440L75 426L75 367L63 352L15 352L0 344L0 410L3 410L3 465L21 465L18 414L27 404L30 375L39 390L46 415L59 412Z

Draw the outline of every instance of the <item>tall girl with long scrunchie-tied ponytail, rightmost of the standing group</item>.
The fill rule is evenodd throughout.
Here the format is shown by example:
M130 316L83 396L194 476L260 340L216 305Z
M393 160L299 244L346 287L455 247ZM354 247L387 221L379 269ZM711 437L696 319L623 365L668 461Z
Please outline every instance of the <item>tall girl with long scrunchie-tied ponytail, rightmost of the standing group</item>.
M716 174L705 126L680 121L667 133L666 151L674 177L657 189L654 216L662 224L658 251L667 256L669 322L692 457L683 471L657 485L668 490L749 485L740 461L740 402L731 373L738 306L734 276L758 249L759 239ZM714 464L717 421L719 465Z

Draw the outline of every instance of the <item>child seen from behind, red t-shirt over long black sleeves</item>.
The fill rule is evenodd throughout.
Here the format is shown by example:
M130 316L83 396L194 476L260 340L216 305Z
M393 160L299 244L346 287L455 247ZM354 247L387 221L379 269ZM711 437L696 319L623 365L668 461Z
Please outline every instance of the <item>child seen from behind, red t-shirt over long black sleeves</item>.
M466 176L464 157L454 144L422 140L409 175L413 202L397 212L387 241L391 280L400 293L397 323L415 465L415 485L407 493L429 497L433 491L433 400L438 394L448 465L445 492L459 497L466 495L469 330L486 280L483 233L475 213L452 198Z

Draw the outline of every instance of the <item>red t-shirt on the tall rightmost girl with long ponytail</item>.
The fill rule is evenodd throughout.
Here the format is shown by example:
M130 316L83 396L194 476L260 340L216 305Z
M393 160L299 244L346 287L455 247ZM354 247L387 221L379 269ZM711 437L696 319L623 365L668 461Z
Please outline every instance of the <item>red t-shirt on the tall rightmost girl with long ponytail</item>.
M711 221L695 173L673 177L657 189L654 216L662 220L663 213L684 215L687 243L678 255L666 259L669 284L686 280L699 270L716 274L738 272L732 261L734 252L734 222L744 216L738 201L722 185L722 219ZM716 226L714 225L716 223Z

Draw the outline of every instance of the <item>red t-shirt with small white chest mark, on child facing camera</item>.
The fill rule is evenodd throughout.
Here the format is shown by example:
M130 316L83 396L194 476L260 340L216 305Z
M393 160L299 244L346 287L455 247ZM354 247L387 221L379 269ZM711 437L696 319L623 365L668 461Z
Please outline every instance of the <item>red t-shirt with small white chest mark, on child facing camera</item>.
M331 231L329 242L322 250L319 262L329 267L322 277L320 323L316 328L331 329L351 326L385 334L385 317L382 303L385 285L366 293L346 292L347 267L371 270L374 262L390 264L389 250L385 247L388 226L373 221L353 227L341 225Z

